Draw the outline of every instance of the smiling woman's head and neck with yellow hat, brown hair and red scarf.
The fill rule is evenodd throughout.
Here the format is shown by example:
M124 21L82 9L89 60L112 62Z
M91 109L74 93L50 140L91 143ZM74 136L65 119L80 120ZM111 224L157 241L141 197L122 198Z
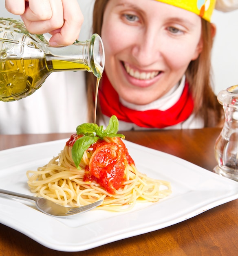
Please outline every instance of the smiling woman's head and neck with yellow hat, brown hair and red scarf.
M95 1L93 32L101 35L106 57L101 124L111 115L120 130L220 124L223 111L210 80L215 1L209 2L198 8L196 0ZM95 82L86 76L92 111Z

